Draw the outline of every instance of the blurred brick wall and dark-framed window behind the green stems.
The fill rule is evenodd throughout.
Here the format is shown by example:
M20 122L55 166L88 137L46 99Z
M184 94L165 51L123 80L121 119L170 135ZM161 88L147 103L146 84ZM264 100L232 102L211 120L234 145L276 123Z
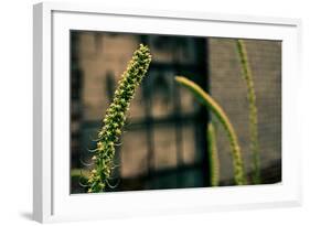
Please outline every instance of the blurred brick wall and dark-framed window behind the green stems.
M210 186L206 125L212 117L174 75L203 87L236 129L250 175L248 101L234 39L71 32L71 192L96 147L116 84L139 43L152 54L116 147L110 191ZM281 181L281 42L246 40L258 108L261 183ZM212 119L213 120L213 119ZM216 123L220 185L233 185L229 142ZM86 164L84 164L86 163Z

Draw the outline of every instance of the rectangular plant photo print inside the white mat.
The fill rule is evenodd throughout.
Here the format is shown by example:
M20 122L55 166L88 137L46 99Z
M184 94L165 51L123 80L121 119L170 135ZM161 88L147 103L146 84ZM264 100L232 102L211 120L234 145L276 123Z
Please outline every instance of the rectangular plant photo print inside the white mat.
M75 31L71 194L281 182L281 41Z

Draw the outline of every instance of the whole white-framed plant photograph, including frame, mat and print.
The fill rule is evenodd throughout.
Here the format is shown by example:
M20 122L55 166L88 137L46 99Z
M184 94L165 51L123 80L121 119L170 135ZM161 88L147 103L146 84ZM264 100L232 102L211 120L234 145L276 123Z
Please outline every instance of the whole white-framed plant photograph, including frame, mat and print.
M301 202L297 19L34 6L33 218Z

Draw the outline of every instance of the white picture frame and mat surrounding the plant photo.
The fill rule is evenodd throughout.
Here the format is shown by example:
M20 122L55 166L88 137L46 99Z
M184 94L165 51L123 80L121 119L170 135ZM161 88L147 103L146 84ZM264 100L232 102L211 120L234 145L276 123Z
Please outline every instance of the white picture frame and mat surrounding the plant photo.
M295 122L301 76L300 20L51 2L35 4L33 15L35 220L104 219L301 204L300 129ZM70 169L70 30L281 40L282 182L272 185L71 195L70 173L65 173Z

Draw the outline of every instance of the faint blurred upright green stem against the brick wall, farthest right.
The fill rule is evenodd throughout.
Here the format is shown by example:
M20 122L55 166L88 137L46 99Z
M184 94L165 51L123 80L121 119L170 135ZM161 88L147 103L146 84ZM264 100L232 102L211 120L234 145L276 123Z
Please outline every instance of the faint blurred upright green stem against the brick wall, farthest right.
M247 52L244 41L237 40L237 51L242 64L243 78L247 86L247 99L249 104L249 137L250 137L250 150L252 150L252 170L253 170L253 183L260 184L260 158L259 158L259 144L257 132L257 107L256 95L254 88L254 80L252 69L247 58Z

